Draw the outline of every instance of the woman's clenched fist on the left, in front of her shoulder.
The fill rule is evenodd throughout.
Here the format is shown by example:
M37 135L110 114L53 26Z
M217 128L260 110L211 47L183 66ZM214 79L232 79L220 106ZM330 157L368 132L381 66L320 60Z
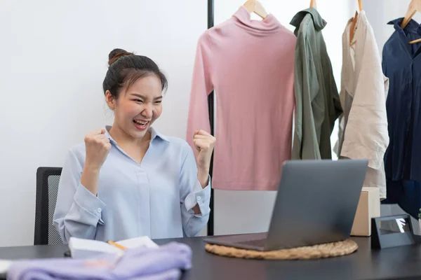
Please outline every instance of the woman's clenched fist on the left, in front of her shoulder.
M91 169L101 169L107 159L111 144L105 137L105 129L94 130L85 137L86 160L85 166Z

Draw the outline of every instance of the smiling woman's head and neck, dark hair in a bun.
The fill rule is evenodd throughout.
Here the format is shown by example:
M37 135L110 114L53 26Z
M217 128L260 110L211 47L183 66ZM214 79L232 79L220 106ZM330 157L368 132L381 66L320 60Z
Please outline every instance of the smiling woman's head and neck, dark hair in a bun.
M112 50L108 63L102 87L107 104L115 114L109 134L117 143L138 142L142 146L142 142L149 141L147 129L161 116L162 92L168 85L166 76L149 57L126 50ZM126 146L135 148L136 145ZM129 154L137 162L142 161L141 153Z

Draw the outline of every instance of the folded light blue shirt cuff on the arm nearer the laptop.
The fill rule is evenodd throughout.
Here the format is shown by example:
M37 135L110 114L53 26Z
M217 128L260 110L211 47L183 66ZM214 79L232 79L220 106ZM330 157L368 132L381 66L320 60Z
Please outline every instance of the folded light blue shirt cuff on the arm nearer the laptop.
M187 211L193 209L198 204L201 214L195 214L196 217L203 217L210 213L209 202L210 202L210 176L208 176L208 185L205 188L201 187L199 180L196 181L193 192L189 193L185 199L185 207Z

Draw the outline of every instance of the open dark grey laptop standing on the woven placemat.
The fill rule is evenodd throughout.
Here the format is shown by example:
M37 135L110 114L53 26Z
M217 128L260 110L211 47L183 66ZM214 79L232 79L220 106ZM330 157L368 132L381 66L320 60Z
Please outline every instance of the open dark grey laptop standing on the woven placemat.
M351 235L367 167L368 160L287 161L268 232L204 241L272 251L345 240Z

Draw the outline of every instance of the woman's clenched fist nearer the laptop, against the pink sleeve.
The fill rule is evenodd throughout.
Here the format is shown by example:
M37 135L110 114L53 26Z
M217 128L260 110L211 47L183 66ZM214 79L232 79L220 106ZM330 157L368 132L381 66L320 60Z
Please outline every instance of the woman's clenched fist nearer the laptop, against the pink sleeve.
M212 157L213 147L215 147L215 141L215 137L204 130L194 132L193 143L199 152L196 157L196 163L200 172L209 173L210 158Z

